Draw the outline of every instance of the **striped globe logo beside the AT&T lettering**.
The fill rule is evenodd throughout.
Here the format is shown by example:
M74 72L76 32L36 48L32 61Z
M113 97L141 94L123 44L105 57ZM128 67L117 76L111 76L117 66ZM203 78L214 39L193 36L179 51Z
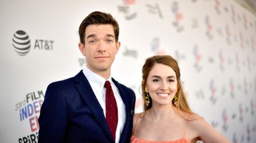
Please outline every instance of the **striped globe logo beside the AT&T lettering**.
M25 31L19 30L14 33L14 37L12 37L12 45L14 46L15 52L20 56L27 55L30 52L30 38Z

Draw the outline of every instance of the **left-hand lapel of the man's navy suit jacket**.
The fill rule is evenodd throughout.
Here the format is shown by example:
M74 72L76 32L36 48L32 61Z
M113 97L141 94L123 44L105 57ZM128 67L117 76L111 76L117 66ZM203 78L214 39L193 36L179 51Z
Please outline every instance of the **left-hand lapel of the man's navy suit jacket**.
M75 76L75 81L78 82L76 84L76 87L82 96L82 98L85 100L86 104L88 104L89 108L91 109L91 112L93 112L93 115L95 116L97 122L101 125L102 129L105 131L108 137L111 137L111 133L109 130L109 126L107 126L107 121L105 120L105 116L103 113L103 109L101 105L99 104L99 101L97 101L96 96L94 95L93 89L91 88L91 85L89 85L88 80L86 79L85 75L82 71L80 71ZM112 137L111 137L112 139Z

